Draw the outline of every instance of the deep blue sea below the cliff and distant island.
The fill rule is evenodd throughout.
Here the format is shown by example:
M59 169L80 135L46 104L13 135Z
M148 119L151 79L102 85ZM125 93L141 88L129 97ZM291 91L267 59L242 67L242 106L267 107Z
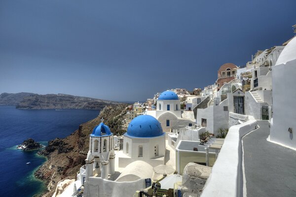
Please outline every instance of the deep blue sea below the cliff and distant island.
M99 113L99 110L24 110L0 106L1 196L33 197L46 190L45 184L33 176L46 158L37 155L37 150L18 150L17 145L29 137L47 145L49 140L68 136Z

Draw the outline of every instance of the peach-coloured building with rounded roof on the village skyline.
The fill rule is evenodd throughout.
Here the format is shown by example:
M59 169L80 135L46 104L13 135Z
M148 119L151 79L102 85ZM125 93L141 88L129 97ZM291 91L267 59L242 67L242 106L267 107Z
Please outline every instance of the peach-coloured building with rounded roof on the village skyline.
M236 69L238 69L238 67L232 63L226 63L220 67L220 69L218 70L218 79L216 82L218 91L224 83L228 83L232 79L236 78Z

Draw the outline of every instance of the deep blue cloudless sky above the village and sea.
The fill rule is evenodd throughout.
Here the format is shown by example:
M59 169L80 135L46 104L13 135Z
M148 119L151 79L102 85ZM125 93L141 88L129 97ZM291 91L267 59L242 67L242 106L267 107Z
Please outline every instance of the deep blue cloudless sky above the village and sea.
M145 100L294 34L296 0L1 0L0 93Z

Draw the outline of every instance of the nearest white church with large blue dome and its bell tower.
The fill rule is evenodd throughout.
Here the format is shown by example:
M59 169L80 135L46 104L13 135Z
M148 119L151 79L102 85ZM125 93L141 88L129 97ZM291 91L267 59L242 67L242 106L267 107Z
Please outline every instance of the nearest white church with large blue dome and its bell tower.
M153 167L165 162L165 133L160 123L149 115L131 121L123 135L123 151L116 152L117 158L113 133L103 122L94 128L89 138L85 165L77 174L79 185L84 186L84 197L133 196L137 190L148 187Z

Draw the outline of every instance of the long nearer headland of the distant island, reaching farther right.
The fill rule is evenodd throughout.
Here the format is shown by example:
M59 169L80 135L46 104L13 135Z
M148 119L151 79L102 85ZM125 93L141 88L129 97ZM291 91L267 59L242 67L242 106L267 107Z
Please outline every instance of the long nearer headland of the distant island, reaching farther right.
M92 99L65 94L29 95L17 105L19 109L103 109L111 100Z

